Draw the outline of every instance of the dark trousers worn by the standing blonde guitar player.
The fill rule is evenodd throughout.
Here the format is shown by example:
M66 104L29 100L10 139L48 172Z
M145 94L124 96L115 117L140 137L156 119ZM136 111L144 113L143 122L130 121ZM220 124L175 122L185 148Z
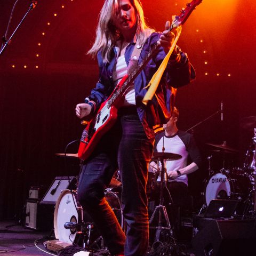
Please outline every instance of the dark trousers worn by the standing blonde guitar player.
M135 108L119 111L92 156L84 163L78 185L78 201L91 215L111 254L144 256L149 231L146 182L153 142L146 137ZM126 237L104 197L117 167L121 172Z

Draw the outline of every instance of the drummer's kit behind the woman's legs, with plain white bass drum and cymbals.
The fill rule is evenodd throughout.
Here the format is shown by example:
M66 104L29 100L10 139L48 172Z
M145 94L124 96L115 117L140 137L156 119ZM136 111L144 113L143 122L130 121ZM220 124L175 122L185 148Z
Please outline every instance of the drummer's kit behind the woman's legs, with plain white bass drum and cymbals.
M77 158L77 154L55 154L61 157ZM158 224L156 227L150 227L156 230L155 241L159 241L162 230L167 230L169 237L173 236L172 227L163 205L163 188L164 188L164 173L165 173L165 161L173 161L181 158L178 154L173 153L155 153L153 159L162 163L161 170L161 189L159 205L155 207L155 211L150 218L150 223L157 218ZM78 158L77 158L78 159ZM151 174L151 175L150 175ZM120 196L122 193L122 183L120 181L119 170L115 172L113 178L110 181L109 187L105 189L105 198L109 203L111 209L114 211L117 220L122 227L126 230L125 220L121 210ZM150 196L156 189L157 175L155 173L149 173L147 182L147 196L150 200ZM167 224L163 227L163 219ZM155 223L155 222L154 222ZM54 210L54 234L55 238L59 241L78 244L83 246L86 250L103 249L104 241L101 237L97 227L94 226L94 222L89 214L86 213L86 209L77 201L77 191L65 189L60 194Z

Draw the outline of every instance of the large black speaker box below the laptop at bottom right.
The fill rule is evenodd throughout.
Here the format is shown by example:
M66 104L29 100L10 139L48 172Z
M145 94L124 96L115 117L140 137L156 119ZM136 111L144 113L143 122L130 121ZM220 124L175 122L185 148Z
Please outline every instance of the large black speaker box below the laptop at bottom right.
M256 220L209 219L193 237L196 256L256 255Z

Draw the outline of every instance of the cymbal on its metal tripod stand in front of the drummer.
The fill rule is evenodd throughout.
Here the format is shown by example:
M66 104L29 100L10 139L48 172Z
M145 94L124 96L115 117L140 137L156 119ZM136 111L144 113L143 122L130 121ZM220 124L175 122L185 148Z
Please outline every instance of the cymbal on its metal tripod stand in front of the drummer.
M163 230L166 230L169 233L170 238L172 239L174 246L176 245L176 242L175 242L175 238L173 237L173 230L172 230L172 227L171 227L169 217L167 215L166 207L163 205L163 198L164 198L163 197L163 189L164 189L164 186L166 186L166 179L164 177L166 175L166 165L165 165L166 159L168 159L169 161L172 161L172 160L176 160L176 159L180 159L180 158L181 158L181 156L178 155L178 154L164 153L164 147L163 147L163 152L161 152L161 153L157 152L153 155L153 159L157 159L158 163L161 162L162 168L161 168L159 205L157 205L155 207L155 210L154 210L153 214L151 215L151 218L149 220L149 228L150 229L156 229L155 242L160 241L161 232ZM170 198L170 199L172 201L172 198ZM153 222L153 220L155 218L155 214L157 213L157 211L159 212L158 225L157 225L157 227L150 227L150 224ZM163 227L163 218L166 222L167 227Z

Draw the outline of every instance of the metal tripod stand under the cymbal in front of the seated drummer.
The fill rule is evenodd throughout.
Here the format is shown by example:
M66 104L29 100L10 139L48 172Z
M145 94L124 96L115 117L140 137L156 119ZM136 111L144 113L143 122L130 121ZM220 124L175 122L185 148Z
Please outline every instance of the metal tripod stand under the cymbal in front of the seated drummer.
M170 237L173 239L173 241L175 241L175 239L173 238L173 230L172 230L171 223L170 223L168 215L167 215L166 207L163 205L163 189L164 189L164 186L166 186L166 183L165 183L166 179L164 179L164 175L166 173L165 159L159 157L158 162L161 162L161 164L162 164L161 183L160 183L160 199L159 199L159 205L156 206L156 208L155 208L155 210L154 210L154 212L153 212L153 214L152 214L152 216L149 220L149 228L150 229L156 229L155 242L160 241L160 235L161 235L162 230L169 231ZM159 211L158 225L157 225L157 227L150 227L150 223L152 223L153 219L155 218L155 214L157 213L157 211ZM162 221L163 217L166 221L166 226L167 227L162 226L163 225L163 221Z

